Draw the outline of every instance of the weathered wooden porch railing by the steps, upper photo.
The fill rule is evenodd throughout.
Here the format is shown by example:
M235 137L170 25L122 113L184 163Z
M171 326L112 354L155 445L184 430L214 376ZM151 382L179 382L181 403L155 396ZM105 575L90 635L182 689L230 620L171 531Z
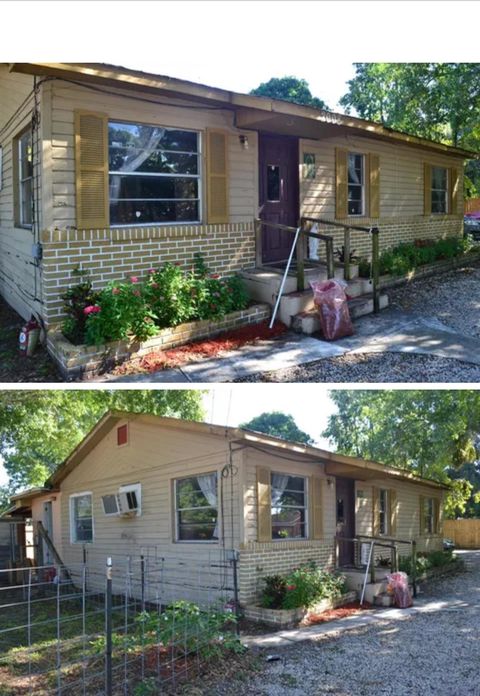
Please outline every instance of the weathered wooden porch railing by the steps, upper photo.
M279 223L267 222L256 218L254 221L255 225L255 254L256 254L256 266L257 268L266 267L268 264L263 262L263 245L262 245L262 233L263 230L267 230L268 234L278 234L279 232L286 231L292 234L292 243L294 236L297 233L296 227L291 227L288 225L282 225ZM351 253L351 232L364 232L369 234L371 237L371 279L372 279L372 294L373 294L373 309L375 313L380 311L380 230L378 227L364 227L360 225L349 225L343 222L335 222L334 220L326 220L324 218L314 218L304 216L300 219L300 234L298 236L298 241L296 244L296 276L297 276L297 290L305 289L305 262L308 261L310 265L313 266L323 266L323 262L317 259L308 258L308 247L307 238L315 238L320 241L325 242L325 261L327 268L327 278L333 278L335 275L335 262L334 262L334 251L333 251L333 237L328 234L320 234L318 232L312 232L312 227L314 225L323 225L326 227L335 227L343 229L343 268L344 268L344 278L345 280L350 280L350 253ZM275 232L276 230L276 232ZM269 264L274 265L274 264Z

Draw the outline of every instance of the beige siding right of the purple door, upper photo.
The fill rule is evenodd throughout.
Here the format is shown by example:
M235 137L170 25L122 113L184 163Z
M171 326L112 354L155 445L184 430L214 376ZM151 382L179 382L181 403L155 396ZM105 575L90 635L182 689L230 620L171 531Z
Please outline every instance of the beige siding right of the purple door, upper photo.
M303 179L300 187L302 215L333 220L335 217L335 151L374 154L379 158L380 218L422 217L424 215L424 164L455 167L459 171L458 186L463 190L463 160L446 157L426 150L393 145L379 140L356 136L325 138L320 141L302 140L301 151L315 154L316 178ZM303 158L302 158L303 161ZM457 197L457 208L452 211L463 215L462 196ZM438 216L431 216L432 220ZM368 224L370 218L350 216L352 222ZM350 219L349 218L349 219ZM348 222L348 219L347 219Z

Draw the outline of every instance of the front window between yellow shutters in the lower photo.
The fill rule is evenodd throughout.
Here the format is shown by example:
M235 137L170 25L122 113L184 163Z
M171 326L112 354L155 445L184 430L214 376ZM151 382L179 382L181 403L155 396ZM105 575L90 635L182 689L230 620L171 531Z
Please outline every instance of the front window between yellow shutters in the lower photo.
M307 491L303 476L271 474L272 539L307 537Z

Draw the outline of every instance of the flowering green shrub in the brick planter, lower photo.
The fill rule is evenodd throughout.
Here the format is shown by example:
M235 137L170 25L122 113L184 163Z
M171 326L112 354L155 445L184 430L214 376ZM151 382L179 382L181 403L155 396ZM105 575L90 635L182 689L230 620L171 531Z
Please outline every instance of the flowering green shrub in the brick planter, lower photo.
M260 604L271 609L297 609L312 606L321 599L340 597L345 591L345 578L316 567L301 565L285 575L264 579Z

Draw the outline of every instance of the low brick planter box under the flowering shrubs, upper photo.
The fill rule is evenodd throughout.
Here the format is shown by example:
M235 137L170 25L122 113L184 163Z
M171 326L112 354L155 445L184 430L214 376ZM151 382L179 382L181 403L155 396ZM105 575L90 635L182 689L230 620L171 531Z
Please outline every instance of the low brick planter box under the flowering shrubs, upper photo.
M194 321L162 329L147 341L115 341L100 346L75 346L60 331L49 331L47 349L66 380L102 374L125 360L153 350L168 350L195 340L217 336L247 324L259 324L270 318L271 307L256 304L231 312L218 321Z

